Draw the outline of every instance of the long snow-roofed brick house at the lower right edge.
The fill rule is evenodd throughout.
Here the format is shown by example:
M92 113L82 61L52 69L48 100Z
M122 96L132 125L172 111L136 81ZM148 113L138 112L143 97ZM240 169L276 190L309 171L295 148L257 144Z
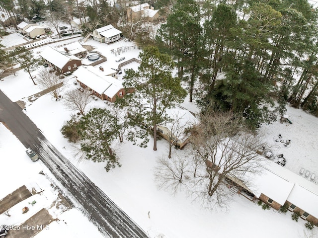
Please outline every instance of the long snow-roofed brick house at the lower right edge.
M246 185L243 180L232 179L240 192L253 195L274 209L283 205L292 212L299 212L301 218L318 224L318 186L304 177L266 160L259 163L260 174L244 175L243 180L253 181Z

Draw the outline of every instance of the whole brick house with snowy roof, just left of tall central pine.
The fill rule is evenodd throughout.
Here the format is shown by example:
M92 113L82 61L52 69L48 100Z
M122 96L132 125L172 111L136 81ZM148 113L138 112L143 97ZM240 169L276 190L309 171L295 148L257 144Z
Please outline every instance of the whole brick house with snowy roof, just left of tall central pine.
M80 66L73 74L81 87L91 90L102 100L115 102L117 97L121 98L126 94L120 80L105 75L104 71L93 66Z

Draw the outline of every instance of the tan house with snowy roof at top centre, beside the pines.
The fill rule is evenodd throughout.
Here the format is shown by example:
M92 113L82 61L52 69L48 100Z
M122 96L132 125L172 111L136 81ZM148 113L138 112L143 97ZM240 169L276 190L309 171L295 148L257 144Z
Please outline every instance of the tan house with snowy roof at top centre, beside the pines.
M154 10L153 6L143 3L127 8L127 17L130 22L136 22L141 19L153 21L159 18L159 10Z

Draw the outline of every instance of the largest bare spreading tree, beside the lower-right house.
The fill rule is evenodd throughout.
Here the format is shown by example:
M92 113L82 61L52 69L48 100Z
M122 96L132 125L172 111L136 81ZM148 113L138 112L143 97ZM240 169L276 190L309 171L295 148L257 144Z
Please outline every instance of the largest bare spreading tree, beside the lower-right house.
M242 131L241 120L231 112L206 111L193 133L193 156L199 157L206 168L198 175L194 193L204 205L226 207L230 197L226 180L259 172L257 161L262 158L256 150L263 144Z

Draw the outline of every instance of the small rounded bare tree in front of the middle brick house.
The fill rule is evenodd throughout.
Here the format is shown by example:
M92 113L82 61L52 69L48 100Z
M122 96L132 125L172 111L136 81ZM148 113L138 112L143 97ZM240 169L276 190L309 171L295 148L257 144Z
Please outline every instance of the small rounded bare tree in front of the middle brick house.
M84 115L87 104L92 101L89 95L90 91L88 90L84 90L83 92L77 89L67 91L64 96L64 105L71 110L79 110L79 113Z

